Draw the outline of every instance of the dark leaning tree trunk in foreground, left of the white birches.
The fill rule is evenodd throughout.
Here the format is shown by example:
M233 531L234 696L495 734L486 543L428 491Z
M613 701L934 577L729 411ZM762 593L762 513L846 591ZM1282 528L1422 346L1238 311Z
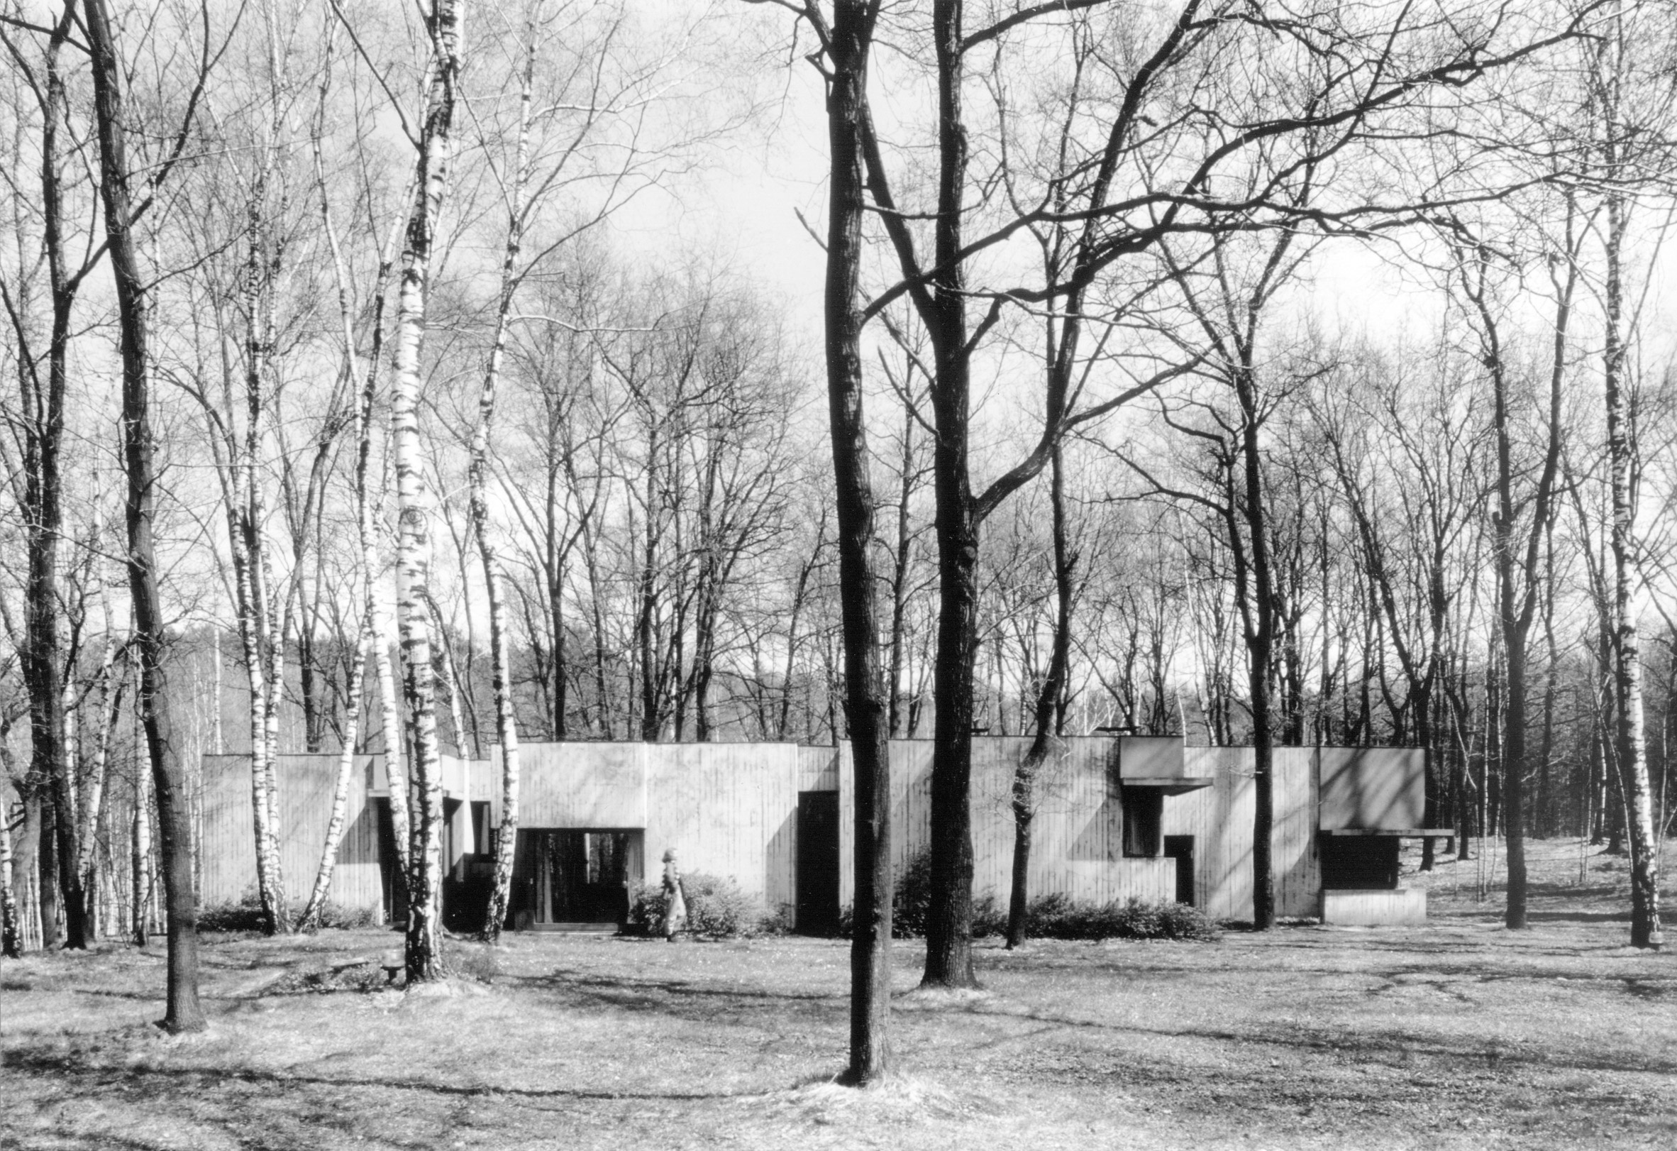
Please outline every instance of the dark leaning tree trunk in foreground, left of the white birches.
M168 683L168 636L158 587L156 436L151 428L151 379L146 354L146 299L129 228L127 119L121 57L112 42L106 0L82 0L94 74L94 119L99 133L99 190L106 238L116 277L122 347L122 460L127 468L127 576L139 649L139 708L146 730L161 829L163 881L168 899L168 1032L203 1030L198 1003L198 898L193 891L193 824L186 765L174 745ZM161 174L161 173L158 173Z

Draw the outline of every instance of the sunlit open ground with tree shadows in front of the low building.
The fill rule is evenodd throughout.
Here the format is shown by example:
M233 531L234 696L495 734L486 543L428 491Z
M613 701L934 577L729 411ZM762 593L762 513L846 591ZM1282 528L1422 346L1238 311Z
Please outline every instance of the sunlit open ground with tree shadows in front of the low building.
M458 993L418 997L374 990L387 931L210 936L210 1032L176 1039L158 948L32 955L0 966L0 1148L1674 1148L1677 955L1625 946L1595 851L1533 846L1523 933L1449 862L1420 930L986 945L964 1000L912 993L902 943L874 1092L830 1082L840 941L456 943Z

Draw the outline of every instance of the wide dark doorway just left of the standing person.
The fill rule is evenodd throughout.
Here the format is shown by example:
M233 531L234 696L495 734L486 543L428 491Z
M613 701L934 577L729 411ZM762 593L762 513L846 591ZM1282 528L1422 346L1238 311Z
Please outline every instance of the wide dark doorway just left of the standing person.
M639 831L518 829L513 924L622 924L641 872Z

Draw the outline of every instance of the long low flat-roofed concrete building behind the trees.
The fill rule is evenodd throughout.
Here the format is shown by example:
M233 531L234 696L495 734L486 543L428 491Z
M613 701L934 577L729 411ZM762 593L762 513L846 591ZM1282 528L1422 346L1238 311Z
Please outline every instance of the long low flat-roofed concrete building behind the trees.
M973 740L974 894L1006 901L1011 785L1030 740ZM899 869L931 831L927 740L890 743ZM733 878L800 930L830 931L850 901L854 780L849 747L792 743L527 743L511 926L614 921L626 883L656 883L661 856ZM312 881L330 815L335 755L278 763L287 889ZM1073 899L1181 899L1251 918L1254 755L1179 738L1055 742L1036 785L1031 893ZM1410 748L1275 748L1273 867L1283 918L1407 923L1425 893L1397 886L1397 846L1419 836L1425 760ZM201 898L255 886L245 757L206 757ZM500 825L500 763L444 758L444 914L476 926ZM334 899L389 913L394 899L382 757L359 757ZM1449 834L1436 831L1434 834Z

